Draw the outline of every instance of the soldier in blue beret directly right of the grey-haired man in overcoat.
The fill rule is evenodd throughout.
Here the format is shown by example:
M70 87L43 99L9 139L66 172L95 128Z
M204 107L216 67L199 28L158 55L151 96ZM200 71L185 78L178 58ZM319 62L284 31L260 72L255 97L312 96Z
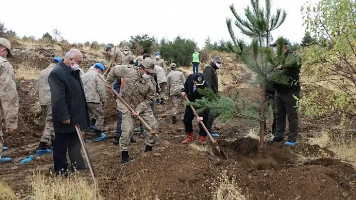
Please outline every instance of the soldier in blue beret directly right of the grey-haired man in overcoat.
M106 134L102 132L104 126L104 110L107 102L106 86L103 80L100 79L101 73L105 71L105 67L101 63L94 64L94 68L82 75L84 94L88 110L91 116L91 123L95 121L95 138L94 141L102 141L106 138ZM94 124L90 124L93 126Z

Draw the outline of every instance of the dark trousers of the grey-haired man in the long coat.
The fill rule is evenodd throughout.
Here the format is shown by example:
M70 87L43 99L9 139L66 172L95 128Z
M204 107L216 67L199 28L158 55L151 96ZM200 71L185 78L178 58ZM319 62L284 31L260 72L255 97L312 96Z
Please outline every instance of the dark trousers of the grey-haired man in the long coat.
M56 173L65 173L68 170L67 149L72 167L76 169L85 168L84 159L80 152L80 141L77 133L55 133L53 162Z

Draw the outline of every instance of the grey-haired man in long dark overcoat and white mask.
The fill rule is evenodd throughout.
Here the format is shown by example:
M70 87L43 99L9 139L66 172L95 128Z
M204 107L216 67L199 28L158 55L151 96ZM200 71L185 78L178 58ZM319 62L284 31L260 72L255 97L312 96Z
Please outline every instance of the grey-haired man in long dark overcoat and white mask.
M81 129L89 125L88 107L78 70L82 62L83 55L80 51L72 49L48 77L55 132L53 162L56 173L67 173L67 149L71 169L86 169L75 130L75 124L79 124Z

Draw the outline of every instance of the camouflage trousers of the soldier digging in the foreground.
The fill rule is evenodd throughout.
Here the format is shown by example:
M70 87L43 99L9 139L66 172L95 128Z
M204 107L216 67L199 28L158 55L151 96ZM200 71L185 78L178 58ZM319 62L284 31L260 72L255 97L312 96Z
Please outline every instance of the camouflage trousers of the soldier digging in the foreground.
M158 122L156 118L154 118L154 115L152 112L149 113L142 113L140 116L145 120L153 130L156 130L158 127ZM121 130L122 134L119 140L119 146L121 151L128 151L130 150L130 139L132 135L134 134L133 129L135 125L135 120L136 117L132 115L130 111L123 113L122 116L122 124L121 124ZM143 129L146 131L146 139L145 139L145 144L149 146L153 146L156 143L156 138L149 133L149 131L146 129L146 127L143 127Z

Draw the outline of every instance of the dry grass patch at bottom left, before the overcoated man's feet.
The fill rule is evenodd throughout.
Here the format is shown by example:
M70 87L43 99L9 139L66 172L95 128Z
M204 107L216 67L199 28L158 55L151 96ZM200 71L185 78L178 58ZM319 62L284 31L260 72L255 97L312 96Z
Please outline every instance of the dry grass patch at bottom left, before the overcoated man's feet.
M40 172L34 174L32 178L32 199L103 199L99 191L94 189L94 185L82 177L79 173L73 174L70 178L62 176L46 177ZM96 197L98 194L99 197Z

